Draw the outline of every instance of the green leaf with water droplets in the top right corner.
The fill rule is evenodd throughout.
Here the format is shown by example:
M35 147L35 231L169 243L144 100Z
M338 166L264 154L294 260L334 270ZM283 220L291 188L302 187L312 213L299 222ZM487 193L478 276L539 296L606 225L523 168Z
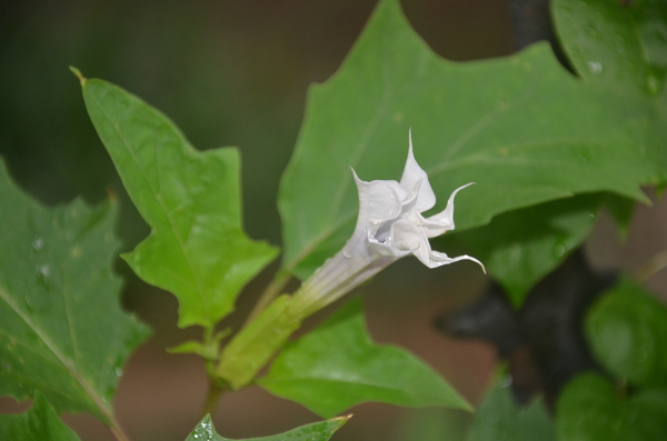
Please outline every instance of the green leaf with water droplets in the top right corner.
M616 93L656 98L663 93L667 73L667 3L626 3L555 0L556 30L586 81Z

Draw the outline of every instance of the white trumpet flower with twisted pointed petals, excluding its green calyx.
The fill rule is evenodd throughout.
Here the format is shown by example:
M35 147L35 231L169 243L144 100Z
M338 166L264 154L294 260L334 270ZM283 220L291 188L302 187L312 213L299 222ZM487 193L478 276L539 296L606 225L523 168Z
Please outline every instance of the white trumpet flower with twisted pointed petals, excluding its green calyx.
M390 263L408 254L428 268L471 260L469 255L450 258L434 251L428 241L454 230L454 199L470 182L456 189L444 211L429 218L421 216L436 204L428 176L415 160L411 133L406 167L400 182L362 181L352 169L359 193L359 214L352 237L346 245L320 267L295 294L306 314L317 311L365 282ZM485 270L486 272L486 270Z

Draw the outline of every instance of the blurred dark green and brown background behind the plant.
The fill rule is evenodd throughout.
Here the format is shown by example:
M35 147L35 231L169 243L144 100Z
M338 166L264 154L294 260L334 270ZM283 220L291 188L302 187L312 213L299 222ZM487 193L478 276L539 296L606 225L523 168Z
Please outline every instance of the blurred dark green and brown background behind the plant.
M79 83L68 70L76 66L86 77L119 84L163 111L199 149L239 147L246 229L255 239L280 244L277 189L308 86L336 71L375 3L2 2L0 156L19 184L49 206L79 194L97 203L112 188L121 198L118 234L123 250L146 237L148 228L88 120ZM404 9L431 48L451 60L506 56L521 37L514 31L511 9L504 0L412 0L404 1ZM656 219L660 213L641 209L640 214L630 233L633 245L623 252L609 221L603 220L589 245L598 264L621 260L636 267L627 254L640 262L665 247L667 238ZM156 331L126 369L116 399L119 419L133 440L183 440L198 421L206 392L203 367L195 357L170 355L163 349L196 337L198 330L176 328L178 305L171 294L141 283L120 261L117 269L128 280L123 304ZM248 287L239 301L239 318L229 324L242 318L271 270L275 267ZM377 279L361 290L375 339L409 348L477 402L491 377L494 351L482 343L447 339L431 329L430 320L479 295L486 278L472 265L429 271L405 260ZM3 411L24 408L0 400ZM391 440L406 412L359 405L335 439ZM83 440L112 439L90 417L66 420ZM253 387L226 395L213 420L222 435L249 438L318 418Z

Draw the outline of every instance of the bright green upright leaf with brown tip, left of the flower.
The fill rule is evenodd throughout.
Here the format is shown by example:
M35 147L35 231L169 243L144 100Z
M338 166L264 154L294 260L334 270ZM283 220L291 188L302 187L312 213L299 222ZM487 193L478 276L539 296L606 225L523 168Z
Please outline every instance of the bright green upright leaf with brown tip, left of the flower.
M212 327L278 252L241 228L238 151L197 151L137 97L101 80L81 84L90 119L152 228L123 258L141 279L179 299L180 327Z

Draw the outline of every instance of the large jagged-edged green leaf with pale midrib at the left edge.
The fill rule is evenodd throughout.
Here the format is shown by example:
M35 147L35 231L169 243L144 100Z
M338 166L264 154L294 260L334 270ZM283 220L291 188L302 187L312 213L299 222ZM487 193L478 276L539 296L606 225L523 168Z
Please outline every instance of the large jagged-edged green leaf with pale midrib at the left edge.
M60 412L112 419L129 352L148 330L119 304L116 206L47 209L0 161L0 395L43 394Z

